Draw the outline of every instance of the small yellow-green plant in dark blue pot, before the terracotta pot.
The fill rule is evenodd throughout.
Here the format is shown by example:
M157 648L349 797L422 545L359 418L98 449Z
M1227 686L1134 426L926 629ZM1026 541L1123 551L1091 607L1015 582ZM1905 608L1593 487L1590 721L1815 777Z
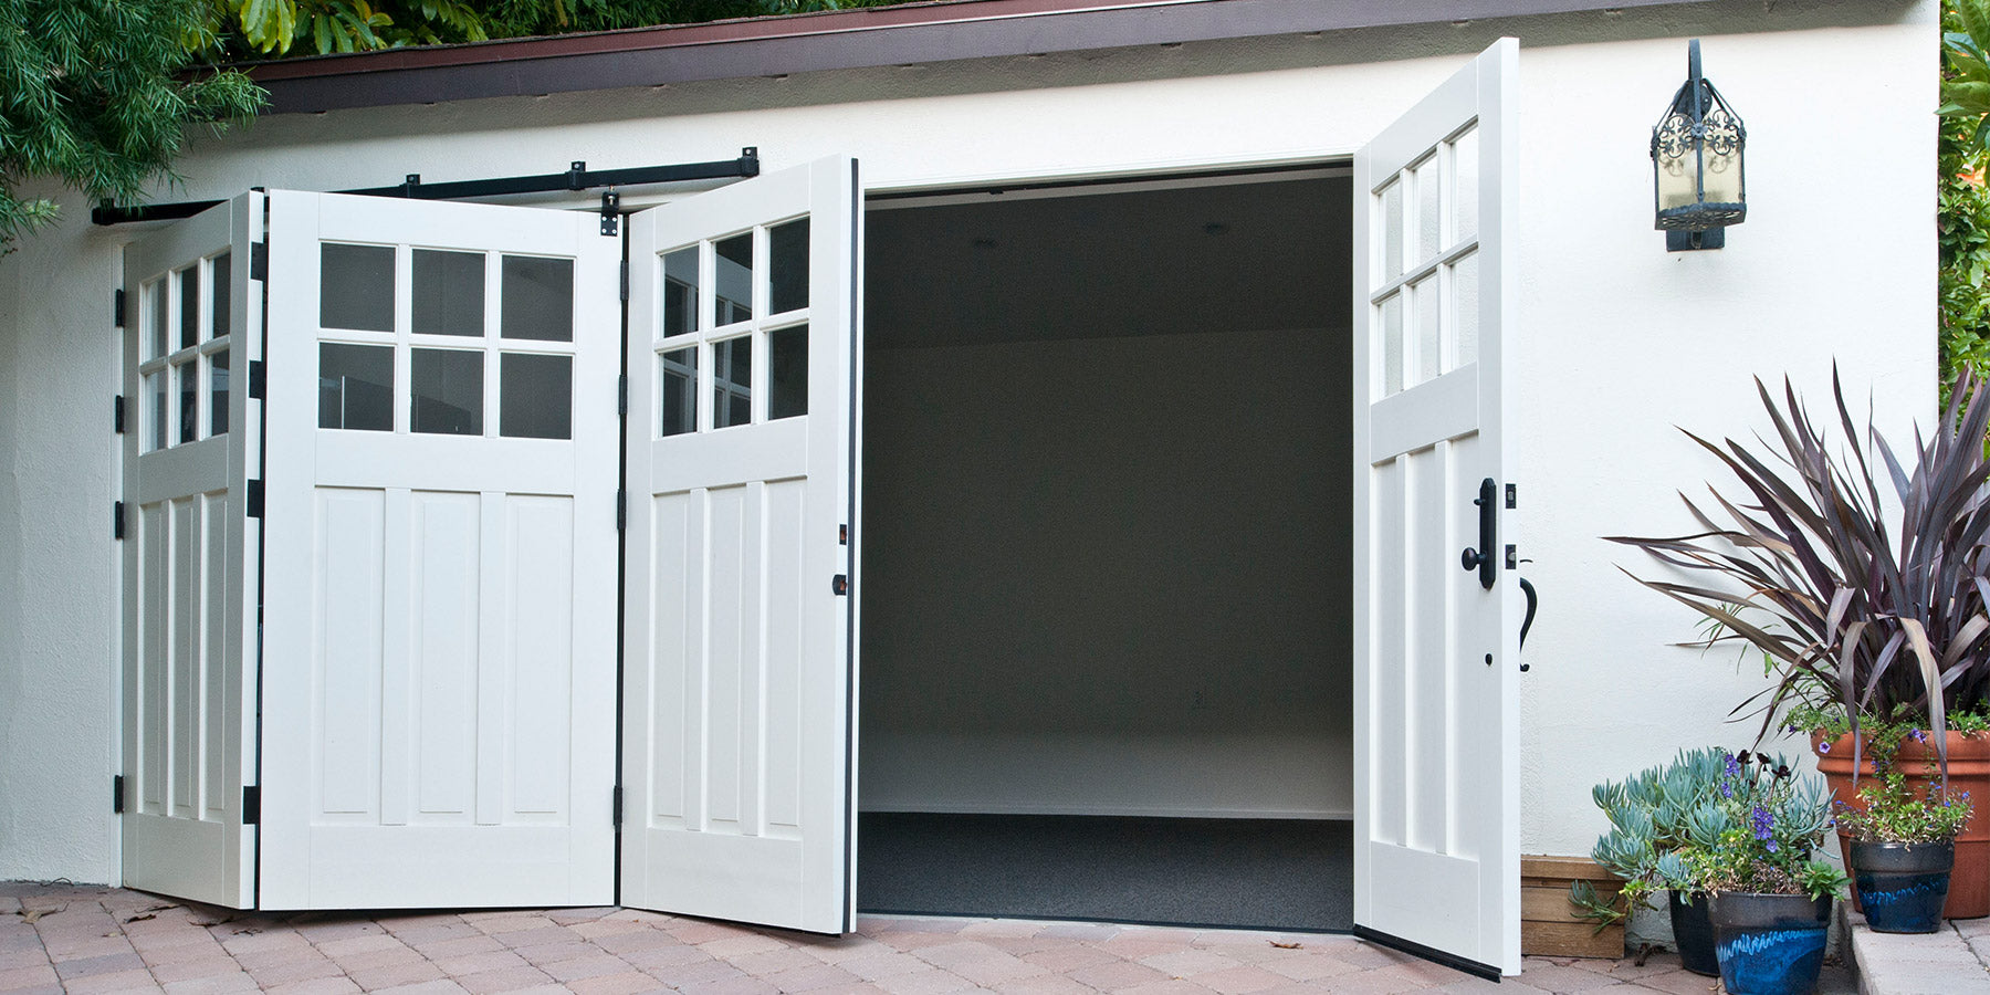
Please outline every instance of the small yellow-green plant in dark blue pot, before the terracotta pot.
M1908 734L1908 742L1924 738L1920 730ZM1889 738L1875 742L1879 774L1859 788L1857 804L1837 802L1839 834L1851 840L1847 866L1867 925L1881 933L1932 933L1942 925L1970 794L1928 780L1910 786L1889 744Z

